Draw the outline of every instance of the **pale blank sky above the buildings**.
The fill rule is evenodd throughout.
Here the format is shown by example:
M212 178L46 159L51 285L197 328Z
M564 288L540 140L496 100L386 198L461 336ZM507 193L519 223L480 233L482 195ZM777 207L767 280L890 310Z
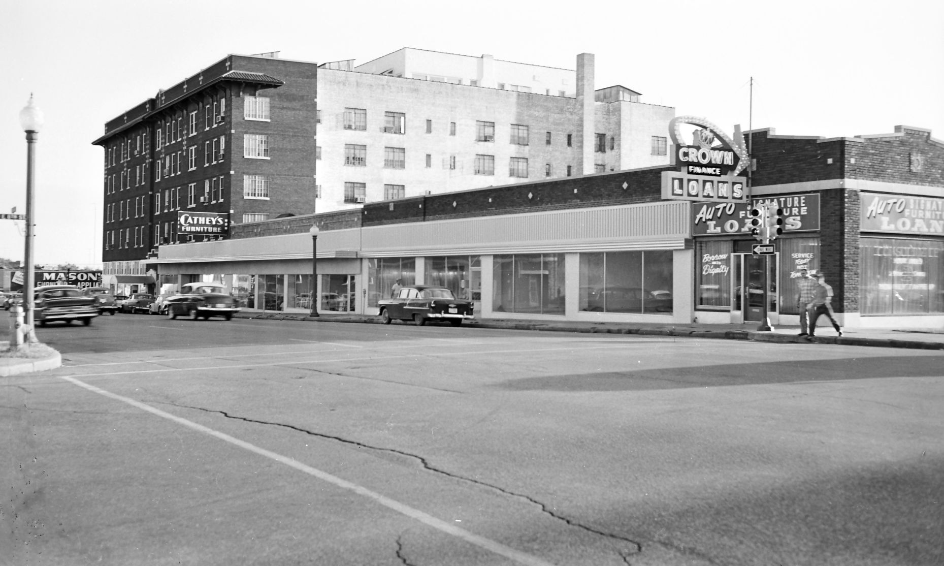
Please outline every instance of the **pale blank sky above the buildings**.
M585 6L584 11L578 7ZM101 266L105 123L228 54L376 59L402 47L565 69L593 53L596 87L708 119L729 135L826 138L905 125L944 140L944 2L934 0L0 0L0 213L25 213L30 94L35 262ZM25 222L0 219L0 258Z

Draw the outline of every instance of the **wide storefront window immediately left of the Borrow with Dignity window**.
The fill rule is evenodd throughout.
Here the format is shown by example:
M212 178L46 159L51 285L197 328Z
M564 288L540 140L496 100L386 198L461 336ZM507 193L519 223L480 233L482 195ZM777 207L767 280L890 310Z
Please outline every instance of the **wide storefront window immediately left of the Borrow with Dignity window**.
M582 253L580 309L672 314L672 252Z

